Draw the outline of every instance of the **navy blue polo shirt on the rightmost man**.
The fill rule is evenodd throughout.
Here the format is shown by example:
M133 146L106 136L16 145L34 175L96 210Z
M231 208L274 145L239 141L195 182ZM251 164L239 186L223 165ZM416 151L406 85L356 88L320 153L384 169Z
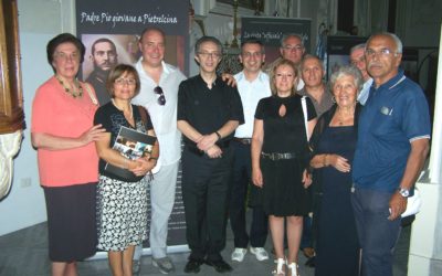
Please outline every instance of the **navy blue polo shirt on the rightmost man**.
M403 177L411 142L429 139L429 106L421 87L399 72L370 95L359 117L352 164L355 185L394 191Z

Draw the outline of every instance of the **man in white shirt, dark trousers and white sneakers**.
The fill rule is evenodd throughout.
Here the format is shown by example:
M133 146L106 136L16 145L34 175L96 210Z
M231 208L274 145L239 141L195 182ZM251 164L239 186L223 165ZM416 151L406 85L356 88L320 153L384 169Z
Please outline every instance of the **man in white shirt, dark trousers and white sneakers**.
M231 257L232 261L242 262L250 242L250 252L256 256L257 261L264 261L269 259L269 254L264 250L267 237L267 216L262 206L253 206L253 219L249 235L245 226L245 199L251 179L250 144L256 105L261 98L269 97L272 93L269 75L261 71L265 59L262 42L257 40L244 41L239 57L244 70L234 75L234 78L241 96L245 123L236 128L231 144L234 152L234 164L229 215L235 247ZM252 185L252 189L256 188Z

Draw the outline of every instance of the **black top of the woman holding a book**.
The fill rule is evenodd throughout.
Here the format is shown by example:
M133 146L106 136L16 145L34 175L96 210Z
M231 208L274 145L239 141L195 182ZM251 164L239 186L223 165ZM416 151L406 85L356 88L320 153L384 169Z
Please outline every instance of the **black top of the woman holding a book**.
M147 116L147 121L146 126L145 123L141 119L141 116L139 114L138 106L131 105L133 107L133 114L134 114L134 120L135 120L135 127L130 126L130 124L126 120L124 114L122 110L116 108L113 103L107 103L104 106L101 106L95 114L94 118L94 124L102 124L103 128L106 129L106 132L110 132L110 145L109 147L114 147L115 140L117 139L118 132L120 127L127 127L131 129L136 129L141 132L146 132L147 130L152 129L152 124L150 120L150 117ZM117 179L125 181L125 179L118 178L117 176L110 174L107 171L104 170L106 166L106 161L103 159L99 159L99 173L104 174L106 177ZM136 181L140 180L143 177L137 179Z

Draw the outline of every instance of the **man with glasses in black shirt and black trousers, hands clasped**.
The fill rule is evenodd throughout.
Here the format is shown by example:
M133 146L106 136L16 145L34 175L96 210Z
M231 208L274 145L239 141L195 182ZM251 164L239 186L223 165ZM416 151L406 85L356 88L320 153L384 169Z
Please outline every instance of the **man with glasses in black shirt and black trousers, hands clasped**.
M229 182L233 164L230 141L244 123L235 87L217 76L222 45L202 36L194 46L200 74L180 84L178 129L183 134L182 198L187 242L191 250L186 273L198 273L204 262L217 272L232 270L220 252L225 246Z

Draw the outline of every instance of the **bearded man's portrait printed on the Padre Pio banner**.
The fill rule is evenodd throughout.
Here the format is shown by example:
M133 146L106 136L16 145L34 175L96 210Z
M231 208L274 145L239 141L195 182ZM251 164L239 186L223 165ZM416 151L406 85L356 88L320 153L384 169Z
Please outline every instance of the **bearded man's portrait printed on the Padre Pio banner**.
M86 82L95 89L99 105L107 104L110 96L107 93L106 79L109 71L118 63L118 55L112 40L102 38L92 44L91 61L94 63L94 71Z

